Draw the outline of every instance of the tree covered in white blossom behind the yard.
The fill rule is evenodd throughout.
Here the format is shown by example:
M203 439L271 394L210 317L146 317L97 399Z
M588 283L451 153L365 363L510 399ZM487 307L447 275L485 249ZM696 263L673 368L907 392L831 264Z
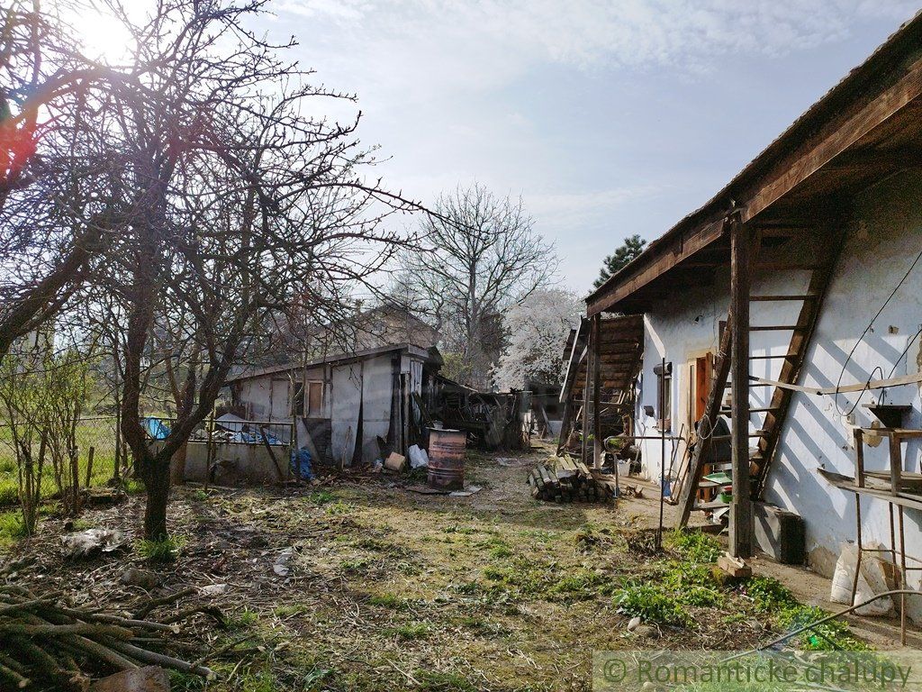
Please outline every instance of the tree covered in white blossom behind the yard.
M561 382L561 355L585 304L576 293L538 290L502 317L506 345L493 379L500 389L525 388L529 381Z

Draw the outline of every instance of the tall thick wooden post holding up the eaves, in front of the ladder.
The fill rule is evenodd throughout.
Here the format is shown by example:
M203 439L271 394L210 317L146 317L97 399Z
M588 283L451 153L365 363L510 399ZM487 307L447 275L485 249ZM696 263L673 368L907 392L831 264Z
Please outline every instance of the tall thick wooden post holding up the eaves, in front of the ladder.
M730 220L730 344L732 392L731 446L733 502L730 504L730 555L752 555L752 499L749 453L750 238L734 215Z

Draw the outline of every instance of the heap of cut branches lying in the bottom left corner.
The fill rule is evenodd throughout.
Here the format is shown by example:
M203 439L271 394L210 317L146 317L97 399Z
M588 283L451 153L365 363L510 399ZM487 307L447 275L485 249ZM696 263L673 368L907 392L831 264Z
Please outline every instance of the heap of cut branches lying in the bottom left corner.
M178 594L121 616L70 607L59 593L36 595L0 585L0 689L86 690L91 674L144 665L214 677L204 661L185 662L160 652L169 650L168 642L179 634L183 614L167 622L145 619Z

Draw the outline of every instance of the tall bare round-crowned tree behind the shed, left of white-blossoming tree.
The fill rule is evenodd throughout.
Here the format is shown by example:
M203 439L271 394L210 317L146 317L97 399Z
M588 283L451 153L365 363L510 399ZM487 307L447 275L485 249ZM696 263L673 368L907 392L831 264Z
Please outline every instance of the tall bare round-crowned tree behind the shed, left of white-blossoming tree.
M536 233L521 198L483 185L443 194L422 224L422 251L405 253L394 293L442 334L445 373L488 388L502 351L502 315L546 284L553 245ZM455 366L453 366L455 365Z

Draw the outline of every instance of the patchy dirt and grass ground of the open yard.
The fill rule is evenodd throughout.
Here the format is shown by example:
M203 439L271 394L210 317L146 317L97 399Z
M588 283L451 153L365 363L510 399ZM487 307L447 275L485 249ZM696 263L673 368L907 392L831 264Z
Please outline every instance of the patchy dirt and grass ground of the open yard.
M367 475L284 492L185 487L171 504L175 562L150 567L137 543L65 561L64 519L49 518L13 555L37 561L10 579L108 610L148 597L120 582L127 567L156 573L154 595L195 587L229 618L221 629L203 615L202 648L240 641L209 662L220 679L207 688L220 691L587 690L592 650L739 649L773 638L739 599L693 610L686 626L629 632L612 595L662 573L648 531L653 490L618 507L538 502L525 479L547 457L543 448L469 455L467 483L482 490L468 497ZM85 512L73 528L134 539L142 511L135 496ZM820 580L803 593L798 570L774 567L805 599L822 591Z

